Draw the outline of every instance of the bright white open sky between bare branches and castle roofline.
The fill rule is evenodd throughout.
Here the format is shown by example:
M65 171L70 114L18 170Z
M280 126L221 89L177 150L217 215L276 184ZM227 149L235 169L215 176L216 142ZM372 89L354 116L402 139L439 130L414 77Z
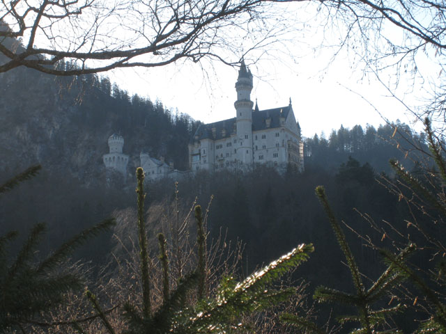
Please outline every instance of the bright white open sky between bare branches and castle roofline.
M272 50L255 64L247 61L254 74L251 97L253 102L258 100L259 109L287 106L291 97L303 136L321 132L329 136L332 129L341 125L376 127L385 122L380 114L390 121L399 119L412 125L413 116L407 115L403 104L390 97L373 74L364 76L361 64L352 65L355 62L351 53L342 51L330 61L331 49L308 42L317 40L314 35L302 34L299 38L306 41L299 45L289 43L286 51ZM148 70L116 70L109 76L130 95L159 99L167 108L178 109L195 120L207 123L235 117L237 69L217 62L205 63L203 67L206 72L200 65L185 62ZM422 66L418 67L421 72ZM386 84L392 83L394 72L383 73L381 78ZM399 97L411 105L417 104L421 96L415 94L413 84L405 84L403 77L400 80L403 82Z

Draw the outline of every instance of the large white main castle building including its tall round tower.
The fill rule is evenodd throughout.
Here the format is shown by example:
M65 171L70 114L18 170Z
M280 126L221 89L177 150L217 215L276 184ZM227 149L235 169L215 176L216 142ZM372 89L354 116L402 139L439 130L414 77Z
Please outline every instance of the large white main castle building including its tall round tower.
M303 142L291 99L288 106L259 110L251 101L252 74L242 61L236 82L236 117L200 125L189 144L192 171L246 169L268 164L303 170Z

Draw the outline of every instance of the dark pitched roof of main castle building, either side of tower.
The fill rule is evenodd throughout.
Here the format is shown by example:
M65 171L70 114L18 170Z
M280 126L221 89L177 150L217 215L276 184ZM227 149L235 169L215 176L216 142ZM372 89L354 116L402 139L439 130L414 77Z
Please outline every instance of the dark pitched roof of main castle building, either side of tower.
M260 131L264 129L273 129L281 127L280 118L287 118L291 111L291 105L282 108L266 109L261 111L254 111L252 113L252 131ZM270 126L266 126L266 120L270 118ZM213 129L215 128L215 138L213 136ZM224 132L222 130L225 130ZM192 142L201 139L213 139L217 141L223 138L229 138L231 134L236 133L236 118L229 120L220 120L209 124L202 124L198 127Z

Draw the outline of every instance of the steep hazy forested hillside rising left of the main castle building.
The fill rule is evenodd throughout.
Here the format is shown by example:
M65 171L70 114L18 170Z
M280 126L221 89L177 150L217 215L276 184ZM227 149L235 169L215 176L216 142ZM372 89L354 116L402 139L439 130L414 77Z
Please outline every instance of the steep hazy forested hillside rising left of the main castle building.
M187 168L197 122L160 101L130 97L106 77L52 77L21 68L1 74L0 93L2 173L40 163L84 185L103 180L102 154L115 132L125 138L129 170L139 166L141 151Z

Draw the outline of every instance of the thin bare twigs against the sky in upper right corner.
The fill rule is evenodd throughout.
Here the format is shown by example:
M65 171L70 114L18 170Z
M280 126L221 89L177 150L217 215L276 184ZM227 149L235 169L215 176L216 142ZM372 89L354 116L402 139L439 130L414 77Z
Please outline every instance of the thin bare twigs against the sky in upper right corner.
M445 127L446 5L429 0L321 1L326 26L337 42L334 56L348 49L362 66L416 118L429 116ZM401 88L402 87L402 88ZM401 89L400 89L401 88ZM413 104L414 97L418 98ZM411 101L412 100L412 101Z

